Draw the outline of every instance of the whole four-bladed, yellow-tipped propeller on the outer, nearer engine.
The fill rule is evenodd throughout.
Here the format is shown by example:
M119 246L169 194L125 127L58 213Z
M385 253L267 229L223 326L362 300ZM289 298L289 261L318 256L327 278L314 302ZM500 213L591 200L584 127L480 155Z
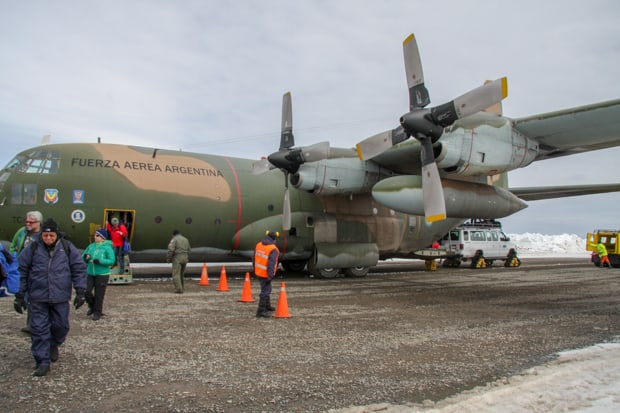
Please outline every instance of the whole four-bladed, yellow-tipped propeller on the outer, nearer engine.
M504 99L508 95L508 83L505 77L497 79L448 103L426 109L430 97L424 84L422 61L413 34L403 42L403 55L409 87L409 112L401 116L400 126L396 129L379 133L358 143L357 153L362 160L370 159L410 136L417 139L422 147L424 215L427 222L439 221L446 218L446 206L433 154L433 143L441 137L444 128L457 119L484 110Z

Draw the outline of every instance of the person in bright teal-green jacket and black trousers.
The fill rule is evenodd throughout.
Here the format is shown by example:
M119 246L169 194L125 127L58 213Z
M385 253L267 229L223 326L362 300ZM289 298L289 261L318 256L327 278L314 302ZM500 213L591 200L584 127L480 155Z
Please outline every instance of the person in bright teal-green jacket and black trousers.
M86 303L93 320L97 321L103 314L103 298L110 279L110 266L116 263L116 255L112 248L112 241L108 240L108 231L99 228L95 231L95 242L91 243L82 253L87 263L86 270ZM94 294L93 294L94 290Z

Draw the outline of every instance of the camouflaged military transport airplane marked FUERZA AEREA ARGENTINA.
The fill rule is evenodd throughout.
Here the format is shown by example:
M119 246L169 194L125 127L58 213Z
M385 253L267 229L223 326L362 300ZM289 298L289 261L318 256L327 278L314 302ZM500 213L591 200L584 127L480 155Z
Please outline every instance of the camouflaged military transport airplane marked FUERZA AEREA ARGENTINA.
M502 218L525 201L620 191L620 184L509 188L534 161L620 145L620 100L511 119L505 78L430 104L418 46L403 43L409 111L357 148L295 147L284 95L279 149L259 161L104 143L46 144L0 172L0 239L27 211L56 219L79 247L111 219L128 226L134 262L157 262L173 229L192 261L247 260L266 230L286 270L363 276L421 252L466 219ZM413 138L413 139L409 139Z

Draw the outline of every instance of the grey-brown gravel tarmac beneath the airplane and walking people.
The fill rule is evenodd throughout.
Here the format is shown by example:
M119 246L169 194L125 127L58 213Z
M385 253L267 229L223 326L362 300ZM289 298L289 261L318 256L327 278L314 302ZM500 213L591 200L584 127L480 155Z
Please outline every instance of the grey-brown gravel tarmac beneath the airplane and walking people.
M435 402L620 332L620 270L585 260L520 268L379 268L364 278L278 278L290 318L218 280L110 285L105 316L71 310L60 360L32 377L24 316L0 298L0 406L10 412L327 412ZM148 270L144 270L148 272ZM252 294L258 299L258 282ZM354 406L367 406L354 408ZM374 407L373 407L374 406Z

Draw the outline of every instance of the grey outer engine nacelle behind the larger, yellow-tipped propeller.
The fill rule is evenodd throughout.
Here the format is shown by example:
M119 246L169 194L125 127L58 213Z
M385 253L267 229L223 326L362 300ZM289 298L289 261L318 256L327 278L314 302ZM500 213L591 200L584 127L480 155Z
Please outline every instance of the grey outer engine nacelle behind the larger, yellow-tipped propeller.
M539 152L538 143L514 130L508 121L499 127L458 128L445 133L438 142L441 150L436 156L437 166L465 176L490 176L522 168Z

